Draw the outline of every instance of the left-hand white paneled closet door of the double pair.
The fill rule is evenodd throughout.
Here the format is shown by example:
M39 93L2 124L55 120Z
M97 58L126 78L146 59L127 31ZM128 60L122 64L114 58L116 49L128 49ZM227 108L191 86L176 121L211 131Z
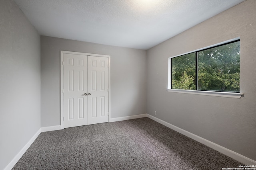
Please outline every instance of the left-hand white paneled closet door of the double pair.
M64 128L88 125L87 89L87 56L64 53Z

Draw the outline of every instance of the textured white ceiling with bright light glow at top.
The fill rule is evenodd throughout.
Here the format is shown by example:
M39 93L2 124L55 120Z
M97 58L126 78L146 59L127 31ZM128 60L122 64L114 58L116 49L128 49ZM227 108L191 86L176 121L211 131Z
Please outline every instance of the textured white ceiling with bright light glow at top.
M244 0L14 0L40 35L149 49Z

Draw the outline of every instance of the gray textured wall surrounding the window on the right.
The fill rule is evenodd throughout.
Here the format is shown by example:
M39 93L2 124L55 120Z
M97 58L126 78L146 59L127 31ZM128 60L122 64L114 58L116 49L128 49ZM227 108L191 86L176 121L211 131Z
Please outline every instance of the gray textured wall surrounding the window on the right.
M147 51L147 113L256 160L256 1L247 0ZM167 92L168 57L240 37L240 99ZM154 111L157 115L154 115Z

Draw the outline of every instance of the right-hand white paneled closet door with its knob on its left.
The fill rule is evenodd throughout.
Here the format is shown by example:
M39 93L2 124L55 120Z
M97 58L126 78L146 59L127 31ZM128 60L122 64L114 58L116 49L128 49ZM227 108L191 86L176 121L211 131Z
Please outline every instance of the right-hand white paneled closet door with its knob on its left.
M108 58L88 56L88 125L108 122Z

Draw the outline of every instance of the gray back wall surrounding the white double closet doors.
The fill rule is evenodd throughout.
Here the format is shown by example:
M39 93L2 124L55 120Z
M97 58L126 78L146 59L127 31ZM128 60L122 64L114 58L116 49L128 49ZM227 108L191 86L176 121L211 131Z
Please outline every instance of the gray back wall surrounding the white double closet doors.
M110 55L111 118L146 113L146 51L41 36L41 126L60 125L60 51Z

